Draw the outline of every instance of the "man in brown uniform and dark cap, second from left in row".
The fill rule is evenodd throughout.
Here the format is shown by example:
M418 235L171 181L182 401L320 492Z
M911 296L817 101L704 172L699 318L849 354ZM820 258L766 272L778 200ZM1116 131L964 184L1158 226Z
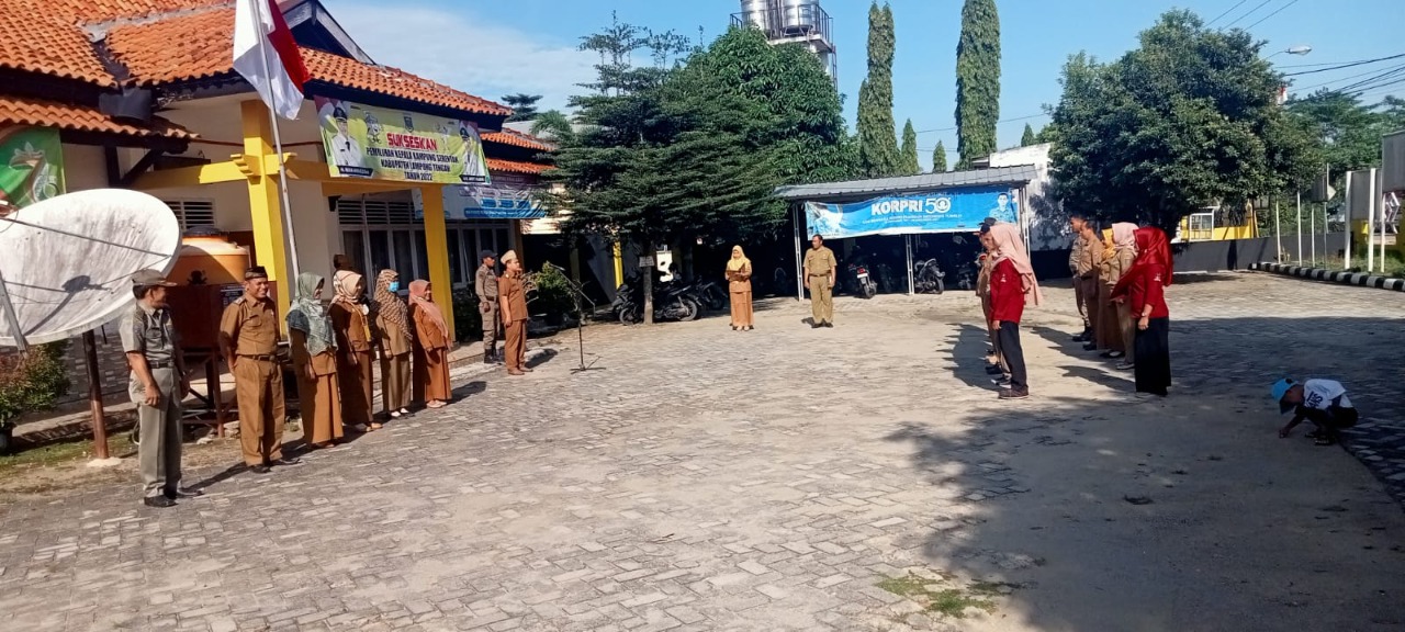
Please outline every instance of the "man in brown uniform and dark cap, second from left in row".
M225 308L219 351L235 375L244 465L259 473L268 473L274 465L298 465L298 458L282 458L287 419L278 365L278 309L268 298L268 272L261 265L244 271L244 295Z

